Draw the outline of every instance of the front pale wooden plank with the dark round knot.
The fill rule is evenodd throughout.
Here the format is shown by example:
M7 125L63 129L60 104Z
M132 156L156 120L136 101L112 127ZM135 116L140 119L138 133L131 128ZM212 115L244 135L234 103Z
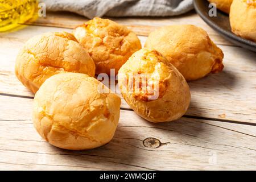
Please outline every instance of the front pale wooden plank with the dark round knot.
M121 110L110 143L68 151L36 133L32 99L0 96L0 103L0 169L256 169L255 126L188 118L154 124Z

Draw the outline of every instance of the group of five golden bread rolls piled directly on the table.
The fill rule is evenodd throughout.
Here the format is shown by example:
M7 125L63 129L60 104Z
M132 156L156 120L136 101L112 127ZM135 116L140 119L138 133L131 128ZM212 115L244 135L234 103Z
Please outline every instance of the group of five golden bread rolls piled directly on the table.
M188 109L187 81L222 71L223 56L196 26L161 27L142 48L133 31L94 18L72 34L50 32L28 40L17 56L15 73L35 93L32 120L41 137L60 148L85 150L113 138L120 113L121 99L95 74L110 75L115 69L131 109L147 121L167 122ZM147 75L147 84L126 92L129 75ZM148 87L152 92L144 91Z

